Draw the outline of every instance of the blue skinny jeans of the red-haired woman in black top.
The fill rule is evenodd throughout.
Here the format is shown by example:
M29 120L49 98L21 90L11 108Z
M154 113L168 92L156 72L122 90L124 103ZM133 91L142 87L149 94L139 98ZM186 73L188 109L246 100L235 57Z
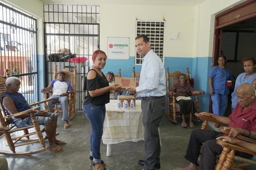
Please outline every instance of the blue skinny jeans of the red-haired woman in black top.
M100 142L103 134L103 123L106 114L106 107L105 105L96 106L90 103L83 105L83 113L89 119L92 128L90 137L90 156L93 156L94 163L101 163Z

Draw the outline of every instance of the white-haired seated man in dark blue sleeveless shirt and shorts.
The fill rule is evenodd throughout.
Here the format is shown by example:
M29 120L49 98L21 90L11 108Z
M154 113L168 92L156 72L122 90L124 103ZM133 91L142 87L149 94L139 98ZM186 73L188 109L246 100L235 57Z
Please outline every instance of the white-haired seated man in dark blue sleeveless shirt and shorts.
M2 102L6 111L9 114L15 114L31 109L24 96L18 92L21 82L17 77L9 77L8 79L6 79L5 84L7 92L2 95ZM66 142L57 140L55 137L58 118L57 114L47 113L40 110L35 114L35 116L38 124L45 126L45 133L49 141L49 150L63 151L63 148L59 145L66 144ZM15 116L13 119L13 123L17 127L33 125L30 114Z

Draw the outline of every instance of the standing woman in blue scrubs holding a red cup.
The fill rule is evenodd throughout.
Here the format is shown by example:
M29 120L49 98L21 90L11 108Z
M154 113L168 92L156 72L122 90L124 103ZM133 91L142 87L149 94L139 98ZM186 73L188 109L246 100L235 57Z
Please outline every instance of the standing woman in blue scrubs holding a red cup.
M209 75L213 113L220 116L224 116L228 105L229 87L226 85L226 82L232 80L231 71L225 67L226 62L225 56L219 56L218 65L211 69Z

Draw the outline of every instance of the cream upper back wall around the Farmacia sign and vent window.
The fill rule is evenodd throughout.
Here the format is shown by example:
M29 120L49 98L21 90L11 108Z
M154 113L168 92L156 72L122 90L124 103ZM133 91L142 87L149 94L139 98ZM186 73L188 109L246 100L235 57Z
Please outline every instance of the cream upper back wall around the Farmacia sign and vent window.
M166 20L164 56L191 57L194 39L194 7L100 6L100 49L107 51L107 37L130 37L130 56L135 56L135 21ZM170 40L179 32L179 40Z

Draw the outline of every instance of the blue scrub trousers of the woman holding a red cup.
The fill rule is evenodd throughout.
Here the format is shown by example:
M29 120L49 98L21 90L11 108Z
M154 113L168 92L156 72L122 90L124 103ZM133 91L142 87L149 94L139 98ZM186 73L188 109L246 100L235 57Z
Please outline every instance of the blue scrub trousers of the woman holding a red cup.
M228 95L213 93L213 95L211 95L211 101L213 102L213 113L224 116L228 106Z

